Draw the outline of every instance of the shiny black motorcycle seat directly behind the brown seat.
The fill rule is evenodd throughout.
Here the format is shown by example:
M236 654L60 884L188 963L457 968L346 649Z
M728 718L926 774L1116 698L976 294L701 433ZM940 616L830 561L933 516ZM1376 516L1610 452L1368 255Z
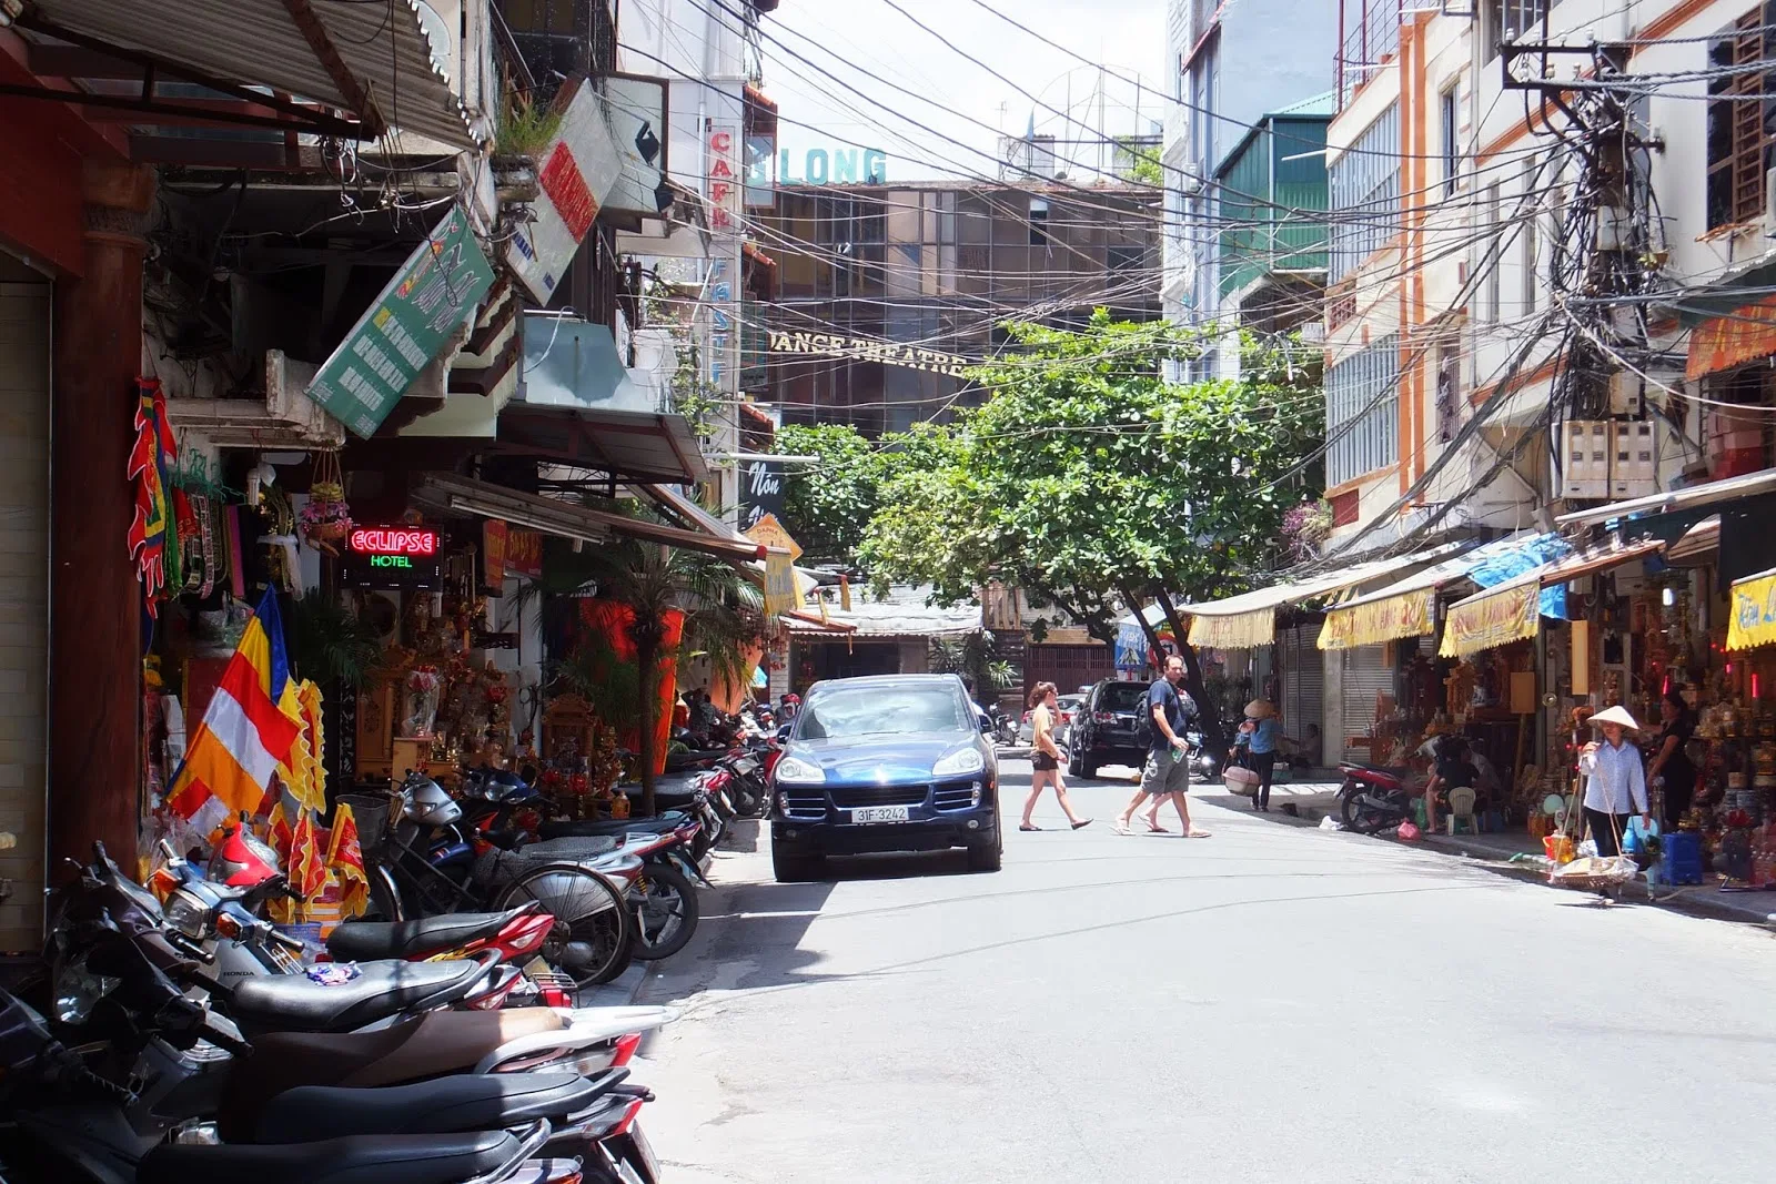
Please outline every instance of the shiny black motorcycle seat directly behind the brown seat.
M355 973L337 985L314 978L329 969ZM245 978L229 1014L261 1031L352 1031L408 1008L455 1003L485 976L480 962L336 962L307 975Z

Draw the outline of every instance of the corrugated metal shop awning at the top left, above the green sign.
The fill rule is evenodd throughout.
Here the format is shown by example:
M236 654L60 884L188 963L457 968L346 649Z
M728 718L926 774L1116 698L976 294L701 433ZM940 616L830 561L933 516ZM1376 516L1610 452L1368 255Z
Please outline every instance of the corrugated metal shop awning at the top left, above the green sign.
M474 147L481 135L439 66L455 46L433 43L449 27L437 21L428 32L428 14L414 0L30 0L18 25L98 53L115 48L124 60L160 64L185 82L215 82L226 94L263 87L261 107L281 110L284 96L293 96L348 112L359 138L398 128ZM156 122L153 110L144 110L142 122Z

